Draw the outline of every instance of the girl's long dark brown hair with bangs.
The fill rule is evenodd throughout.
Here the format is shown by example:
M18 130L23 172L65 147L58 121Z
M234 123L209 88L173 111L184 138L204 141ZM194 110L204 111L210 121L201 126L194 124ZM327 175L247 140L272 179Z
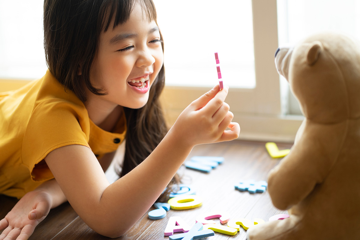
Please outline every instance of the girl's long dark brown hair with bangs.
M152 0L44 1L46 63L65 89L73 91L82 101L86 101L85 87L97 95L107 94L103 89L91 85L89 78L99 36L101 31L106 32L109 27L125 23L136 1L141 4L148 21L156 22L156 9ZM113 18L114 26L110 26ZM163 42L161 44L163 48ZM124 108L127 133L121 176L147 158L167 132L159 102L164 85L165 69L162 66L150 88L147 104L139 109Z

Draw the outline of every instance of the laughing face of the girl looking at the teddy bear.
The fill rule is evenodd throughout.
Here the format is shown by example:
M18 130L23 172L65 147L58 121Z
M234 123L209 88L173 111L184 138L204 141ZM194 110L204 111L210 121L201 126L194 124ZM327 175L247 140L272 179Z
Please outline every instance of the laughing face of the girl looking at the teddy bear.
M148 101L150 87L162 65L159 28L155 21L147 21L136 4L126 23L100 34L90 81L108 94L96 98L105 105L141 108Z

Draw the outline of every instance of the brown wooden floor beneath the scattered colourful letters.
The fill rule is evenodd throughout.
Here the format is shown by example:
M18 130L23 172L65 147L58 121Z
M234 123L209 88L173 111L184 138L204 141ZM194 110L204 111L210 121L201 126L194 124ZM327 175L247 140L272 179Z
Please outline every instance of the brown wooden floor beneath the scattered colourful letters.
M279 149L288 149L292 144L278 144ZM151 220L147 213L125 235L122 240L156 240L169 239L164 236L165 226L171 216L180 216L190 226L195 224L195 218L210 210L221 210L230 213L231 218L261 218L268 221L269 217L279 213L286 213L273 207L267 192L249 194L235 190L234 186L240 180L266 180L267 173L279 163L280 159L273 159L265 149L265 142L231 141L217 144L196 146L187 160L193 156L222 156L223 164L210 173L202 173L180 168L183 182L191 184L196 194L203 199L203 205L190 210L170 210L167 216L159 220ZM0 219L15 205L16 199L0 195ZM149 210L153 210L151 208ZM219 219L215 219L220 224ZM226 226L226 224L225 224ZM72 207L62 204L52 209L49 216L35 229L30 240L100 240L110 239L96 234ZM206 239L246 239L246 231L242 228L235 236L215 232L215 236Z

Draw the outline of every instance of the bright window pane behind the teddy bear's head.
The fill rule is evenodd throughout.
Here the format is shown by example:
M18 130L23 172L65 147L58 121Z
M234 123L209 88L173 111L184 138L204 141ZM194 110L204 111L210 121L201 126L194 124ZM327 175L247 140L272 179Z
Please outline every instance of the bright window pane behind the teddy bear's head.
M317 32L336 31L360 39L360 1L278 0L279 45L296 42ZM280 77L283 113L301 115L288 83Z

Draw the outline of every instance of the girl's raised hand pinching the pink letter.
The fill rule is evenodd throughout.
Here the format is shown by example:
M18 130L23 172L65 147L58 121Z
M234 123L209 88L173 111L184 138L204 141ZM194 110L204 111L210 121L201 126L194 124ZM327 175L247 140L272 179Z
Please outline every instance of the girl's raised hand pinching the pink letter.
M198 144L230 141L237 139L240 126L231 122L234 114L225 103L229 87L220 90L219 85L193 101L177 118L172 131L185 144ZM230 130L226 130L226 128Z

